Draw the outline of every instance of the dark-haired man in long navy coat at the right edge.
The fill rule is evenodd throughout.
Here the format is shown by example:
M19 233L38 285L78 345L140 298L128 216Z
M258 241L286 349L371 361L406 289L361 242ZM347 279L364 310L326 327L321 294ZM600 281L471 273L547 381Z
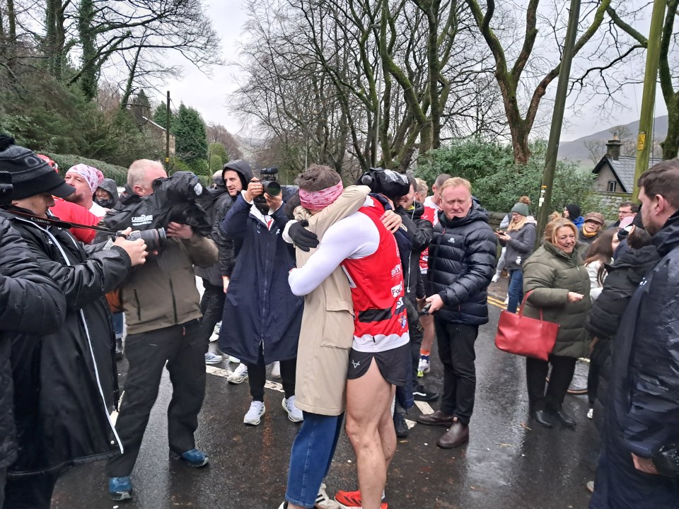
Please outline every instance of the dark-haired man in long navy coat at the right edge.
M639 178L639 201L661 260L634 292L615 336L593 509L679 501L679 160Z

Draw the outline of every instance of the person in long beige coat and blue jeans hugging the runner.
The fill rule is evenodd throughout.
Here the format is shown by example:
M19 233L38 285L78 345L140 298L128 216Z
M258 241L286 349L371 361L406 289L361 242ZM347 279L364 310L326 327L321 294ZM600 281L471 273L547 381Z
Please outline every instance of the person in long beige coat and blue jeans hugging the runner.
M337 184L340 176L327 168L327 179L330 187ZM347 187L337 200L318 213L297 207L295 218L308 221L307 229L320 241L327 228L363 206L368 192L366 186ZM295 251L297 267L302 267L315 249L305 252L298 247ZM334 503L325 492L323 479L342 430L353 341L352 292L347 276L338 267L304 297L295 388L295 404L304 412L304 421L292 445L286 501L281 508L306 508L313 504L331 507Z

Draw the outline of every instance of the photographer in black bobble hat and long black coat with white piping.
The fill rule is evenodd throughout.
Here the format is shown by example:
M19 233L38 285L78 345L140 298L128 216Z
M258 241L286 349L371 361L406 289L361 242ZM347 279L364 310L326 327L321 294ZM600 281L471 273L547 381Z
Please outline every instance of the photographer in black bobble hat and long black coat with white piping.
M49 508L54 484L66 469L122 450L109 417L117 403L117 373L103 296L130 267L144 263L146 246L122 237L83 246L67 230L53 226L52 195L69 196L73 187L6 136L0 136L0 170L13 177L11 204L2 206L0 216L21 235L66 298L63 327L11 335L21 454L8 468L4 507ZM31 311L50 312L42 306Z

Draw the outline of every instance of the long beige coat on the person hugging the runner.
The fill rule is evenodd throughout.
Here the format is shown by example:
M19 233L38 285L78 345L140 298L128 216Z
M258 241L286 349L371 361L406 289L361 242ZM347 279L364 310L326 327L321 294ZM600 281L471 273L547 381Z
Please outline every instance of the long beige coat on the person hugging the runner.
M306 219L308 229L323 239L323 234L363 206L370 189L349 186L342 196L323 211L311 215L302 207L295 218ZM315 252L295 250L297 267L302 267ZM352 291L344 271L337 267L320 286L304 297L304 313L297 351L295 405L313 414L337 416L344 412L347 392L349 351L354 341Z

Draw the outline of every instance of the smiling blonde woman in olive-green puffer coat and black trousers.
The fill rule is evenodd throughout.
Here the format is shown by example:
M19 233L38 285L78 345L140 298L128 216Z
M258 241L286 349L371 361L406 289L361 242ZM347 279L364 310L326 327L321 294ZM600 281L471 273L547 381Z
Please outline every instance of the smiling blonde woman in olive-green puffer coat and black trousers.
M578 229L566 218L547 224L544 242L523 264L525 315L559 324L557 342L548 361L526 358L530 414L551 428L554 419L566 426L575 419L563 409L564 397L579 357L588 354L584 325L590 308L589 276L576 252ZM552 365L545 392L545 379Z

